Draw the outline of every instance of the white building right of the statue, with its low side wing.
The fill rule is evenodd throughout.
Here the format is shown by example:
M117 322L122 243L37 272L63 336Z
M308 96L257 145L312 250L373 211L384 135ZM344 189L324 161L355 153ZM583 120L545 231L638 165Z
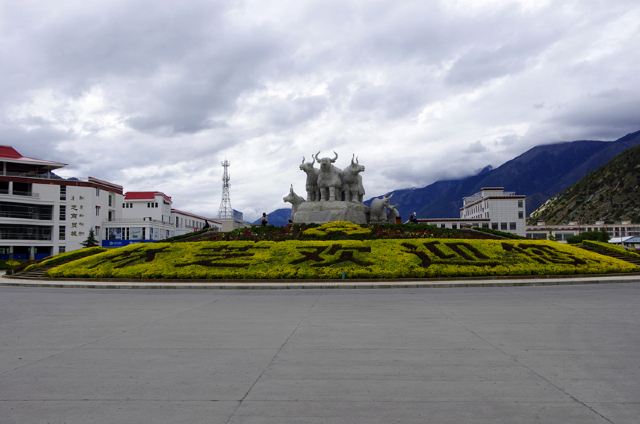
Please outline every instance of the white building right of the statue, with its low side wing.
M504 191L504 187L483 187L465 197L460 218L423 218L418 222L441 228L490 228L525 235L526 196Z

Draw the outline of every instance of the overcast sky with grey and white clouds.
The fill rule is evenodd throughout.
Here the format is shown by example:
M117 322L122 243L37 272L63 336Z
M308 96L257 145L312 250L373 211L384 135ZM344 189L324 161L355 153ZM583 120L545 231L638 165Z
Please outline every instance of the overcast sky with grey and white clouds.
M637 0L0 0L0 144L255 218L302 156L367 197L640 129ZM505 182L506 184L507 182Z

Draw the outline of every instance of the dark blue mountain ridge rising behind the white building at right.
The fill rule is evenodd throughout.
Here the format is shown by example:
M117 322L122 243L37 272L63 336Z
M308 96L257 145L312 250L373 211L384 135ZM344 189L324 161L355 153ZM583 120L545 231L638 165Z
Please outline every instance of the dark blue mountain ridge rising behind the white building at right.
M533 211L550 197L637 145L640 145L640 131L613 142L580 140L536 146L496 169L487 167L466 178L394 190L391 201L398 205L403 219L413 211L421 218L458 217L464 196L482 187L504 186L507 191L526 195L527 211Z

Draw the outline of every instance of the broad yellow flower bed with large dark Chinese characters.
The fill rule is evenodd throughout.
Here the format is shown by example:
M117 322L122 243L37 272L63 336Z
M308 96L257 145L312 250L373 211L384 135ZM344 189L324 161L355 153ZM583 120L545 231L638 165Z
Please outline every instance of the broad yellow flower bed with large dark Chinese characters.
M49 270L51 277L388 279L638 271L569 245L529 240L236 241L135 244Z

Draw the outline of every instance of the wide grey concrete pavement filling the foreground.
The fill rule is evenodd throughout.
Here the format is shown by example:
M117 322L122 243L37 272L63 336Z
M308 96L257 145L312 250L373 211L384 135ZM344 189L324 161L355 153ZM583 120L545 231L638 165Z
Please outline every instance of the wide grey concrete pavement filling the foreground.
M0 423L638 423L640 284L0 287Z

